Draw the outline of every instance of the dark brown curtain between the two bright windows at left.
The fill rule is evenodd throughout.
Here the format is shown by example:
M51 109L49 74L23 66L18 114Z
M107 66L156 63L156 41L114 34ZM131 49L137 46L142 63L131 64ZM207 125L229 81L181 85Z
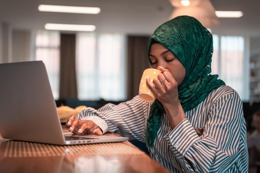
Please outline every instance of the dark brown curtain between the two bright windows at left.
M60 34L60 99L77 98L75 41L75 34Z

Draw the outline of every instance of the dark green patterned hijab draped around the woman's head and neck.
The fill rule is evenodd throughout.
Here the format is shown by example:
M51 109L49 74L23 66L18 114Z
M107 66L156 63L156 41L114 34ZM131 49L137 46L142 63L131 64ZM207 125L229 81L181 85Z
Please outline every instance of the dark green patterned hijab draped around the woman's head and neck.
M153 41L170 50L186 69L185 78L178 86L179 100L184 112L198 106L212 90L225 85L217 79L218 75L209 74L213 52L212 35L194 17L179 16L160 25L150 38L148 55ZM147 122L148 147L154 144L163 113L165 110L156 99Z

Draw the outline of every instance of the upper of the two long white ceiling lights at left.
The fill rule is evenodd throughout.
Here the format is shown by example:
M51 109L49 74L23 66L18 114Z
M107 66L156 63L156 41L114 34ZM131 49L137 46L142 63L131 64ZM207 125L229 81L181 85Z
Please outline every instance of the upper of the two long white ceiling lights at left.
M82 14L98 14L99 7L85 6L62 6L62 5L39 5L39 11L62 12L62 13L82 13Z

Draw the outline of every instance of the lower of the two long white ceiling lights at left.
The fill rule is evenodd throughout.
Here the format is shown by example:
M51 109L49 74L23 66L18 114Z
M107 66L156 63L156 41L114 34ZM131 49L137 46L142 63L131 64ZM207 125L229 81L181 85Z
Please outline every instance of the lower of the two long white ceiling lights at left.
M69 25L69 24L45 24L47 30L58 30L58 31L95 31L95 25Z

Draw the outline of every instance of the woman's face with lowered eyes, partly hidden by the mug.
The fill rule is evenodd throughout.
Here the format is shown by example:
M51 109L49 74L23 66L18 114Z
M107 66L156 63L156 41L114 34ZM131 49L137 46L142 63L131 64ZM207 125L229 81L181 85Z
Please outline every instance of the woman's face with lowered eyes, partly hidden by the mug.
M160 43L154 43L150 47L150 59L152 67L158 69L159 66L169 70L178 86L185 77L186 70L178 58Z

